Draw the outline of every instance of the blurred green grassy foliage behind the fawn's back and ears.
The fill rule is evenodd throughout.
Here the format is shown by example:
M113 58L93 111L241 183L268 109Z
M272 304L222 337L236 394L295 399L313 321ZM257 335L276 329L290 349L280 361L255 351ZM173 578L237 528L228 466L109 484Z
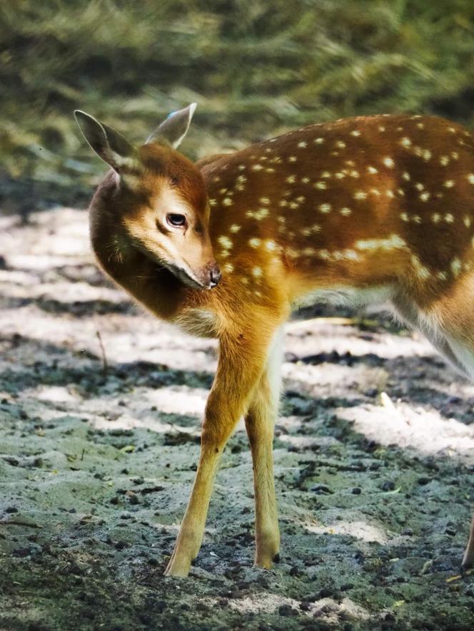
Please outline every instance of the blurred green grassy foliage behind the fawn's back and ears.
M353 114L474 128L474 2L3 1L0 85L0 210L28 212L84 202L106 170L74 108L139 143L197 101L191 158Z

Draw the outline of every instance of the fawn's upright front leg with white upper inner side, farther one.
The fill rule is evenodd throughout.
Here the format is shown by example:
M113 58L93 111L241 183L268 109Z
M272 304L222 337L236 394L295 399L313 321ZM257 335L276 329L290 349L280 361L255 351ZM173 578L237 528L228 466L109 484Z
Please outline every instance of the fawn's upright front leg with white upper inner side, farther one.
M255 563L270 569L280 551L278 509L273 477L273 426L278 414L281 386L283 328L275 334L253 399L245 417L253 461L255 493Z

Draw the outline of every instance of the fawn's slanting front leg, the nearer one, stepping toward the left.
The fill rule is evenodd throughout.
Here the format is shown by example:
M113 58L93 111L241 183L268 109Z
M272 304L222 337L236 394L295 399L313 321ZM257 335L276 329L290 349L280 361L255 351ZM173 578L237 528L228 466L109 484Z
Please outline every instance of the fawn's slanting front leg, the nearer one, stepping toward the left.
M256 335L260 333L258 328L253 330ZM187 576L191 561L198 555L218 462L238 420L248 409L265 366L270 338L271 334L261 334L259 339L245 335L221 339L216 379L206 404L201 456L191 498L165 571L168 576Z

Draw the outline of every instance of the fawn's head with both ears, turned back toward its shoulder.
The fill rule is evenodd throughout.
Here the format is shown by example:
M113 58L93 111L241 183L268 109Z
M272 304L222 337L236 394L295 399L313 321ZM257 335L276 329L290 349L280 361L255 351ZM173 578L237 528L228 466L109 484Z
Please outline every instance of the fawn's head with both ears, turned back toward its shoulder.
M117 247L135 247L189 287L203 289L221 278L208 232L208 197L198 168L176 151L195 109L192 103L171 113L139 147L93 116L74 114L91 148L112 168L102 202Z

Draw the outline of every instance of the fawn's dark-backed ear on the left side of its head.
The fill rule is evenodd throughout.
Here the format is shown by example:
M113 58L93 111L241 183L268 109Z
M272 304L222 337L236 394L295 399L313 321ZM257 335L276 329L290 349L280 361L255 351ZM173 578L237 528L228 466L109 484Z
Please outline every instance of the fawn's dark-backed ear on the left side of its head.
M136 149L123 135L104 123L99 123L94 116L81 110L74 111L79 129L91 148L117 173L123 168L133 170L138 163Z

